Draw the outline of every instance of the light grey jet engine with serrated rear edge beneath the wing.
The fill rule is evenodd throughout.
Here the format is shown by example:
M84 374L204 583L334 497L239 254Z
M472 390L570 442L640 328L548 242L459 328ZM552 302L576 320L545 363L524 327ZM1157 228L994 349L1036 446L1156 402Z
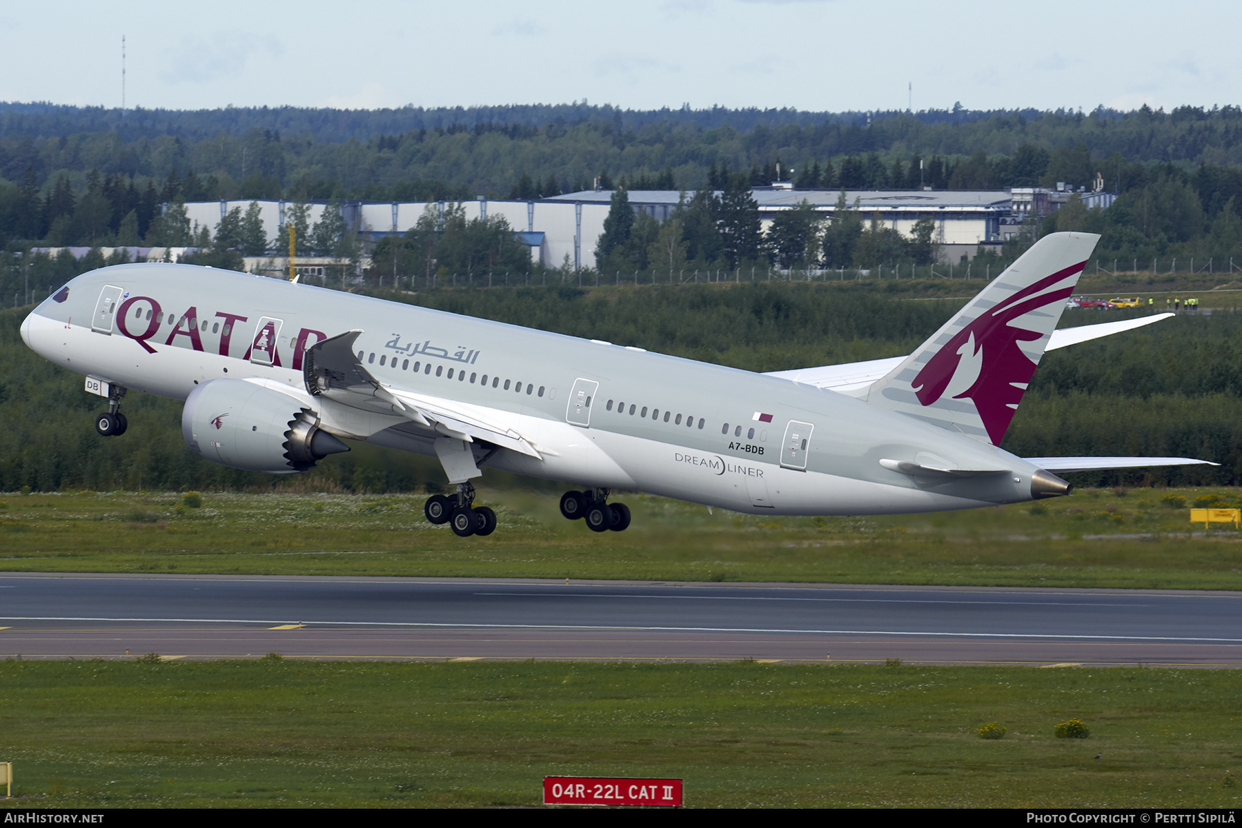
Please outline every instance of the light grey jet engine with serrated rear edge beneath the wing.
M196 386L181 411L181 433L199 457L247 472L306 472L349 451L301 401L245 380Z

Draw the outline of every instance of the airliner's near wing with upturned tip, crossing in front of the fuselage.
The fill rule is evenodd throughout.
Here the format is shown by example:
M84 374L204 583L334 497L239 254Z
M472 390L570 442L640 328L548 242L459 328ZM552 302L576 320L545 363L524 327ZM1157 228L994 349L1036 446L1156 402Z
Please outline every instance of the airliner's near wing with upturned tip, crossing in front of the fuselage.
M534 446L505 420L512 415L415 394L386 385L366 370L354 353L361 330L350 330L307 349L302 372L307 391L354 408L395 413L428 432L462 442L487 441L543 459Z

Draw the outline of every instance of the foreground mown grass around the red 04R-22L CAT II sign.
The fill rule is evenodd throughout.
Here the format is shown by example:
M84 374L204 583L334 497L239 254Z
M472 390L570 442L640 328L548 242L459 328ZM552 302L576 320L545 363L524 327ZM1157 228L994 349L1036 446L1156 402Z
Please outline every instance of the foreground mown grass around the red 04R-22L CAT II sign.
M1240 700L1236 670L10 660L0 760L9 807L520 806L615 775L697 807L1232 808Z

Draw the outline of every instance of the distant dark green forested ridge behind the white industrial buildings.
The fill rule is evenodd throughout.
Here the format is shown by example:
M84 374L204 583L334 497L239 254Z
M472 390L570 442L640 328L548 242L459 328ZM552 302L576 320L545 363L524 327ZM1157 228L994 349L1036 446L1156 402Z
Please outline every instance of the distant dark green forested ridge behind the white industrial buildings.
M46 194L63 175L75 192L83 192L87 176L98 170L119 176L123 186L134 182L137 197L128 209L139 207L148 182L191 169L201 176L201 190L188 186L190 201L421 201L546 197L589 189L596 178L605 189L723 189L712 180L713 170L748 171L751 182L766 184L777 163L782 178L804 187L1081 186L1095 173L1112 182L1117 159L1236 165L1242 163L1242 109L1098 109L1086 115L959 109L874 113L869 125L857 113L631 113L585 106L437 115L132 112L124 119L88 108L7 104L0 112L0 180ZM145 204L148 212L139 209L137 215L140 235L149 221L150 200ZM7 237L41 237L32 232L39 231L5 230Z

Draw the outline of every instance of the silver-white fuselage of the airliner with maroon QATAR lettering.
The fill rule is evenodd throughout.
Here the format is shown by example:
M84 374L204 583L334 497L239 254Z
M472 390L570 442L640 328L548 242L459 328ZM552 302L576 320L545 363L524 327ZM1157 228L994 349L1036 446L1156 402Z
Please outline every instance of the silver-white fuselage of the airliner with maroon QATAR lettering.
M107 290L117 292L116 313L101 322ZM270 351L257 348L265 326ZM396 408L363 410L308 394L303 353L349 330L363 331L360 361L384 389L494 423L537 449L501 448L486 467L764 514L932 511L1031 499L1030 463L832 391L226 271L129 264L87 273L62 300L39 305L22 338L78 374L165 397L184 400L217 379L261 381L303 401L333 434L433 454L435 433ZM591 389L585 413L581 398L574 407L582 387ZM996 473L920 478L892 470L893 459Z

